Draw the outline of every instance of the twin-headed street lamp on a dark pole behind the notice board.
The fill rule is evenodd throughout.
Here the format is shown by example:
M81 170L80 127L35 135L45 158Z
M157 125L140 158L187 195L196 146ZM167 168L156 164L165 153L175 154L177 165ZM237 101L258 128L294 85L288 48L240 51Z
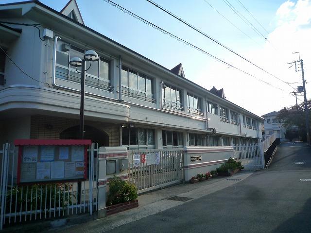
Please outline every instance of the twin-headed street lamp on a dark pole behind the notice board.
M86 80L86 73L91 65L92 62L96 62L99 60L98 54L93 50L87 50L84 53L84 59L79 57L73 57L69 61L69 65L76 68L77 73L81 73L81 94L80 94L80 138L84 139L84 89L85 89L85 80ZM86 67L86 61L89 61L89 67ZM81 72L77 70L77 67L81 67Z

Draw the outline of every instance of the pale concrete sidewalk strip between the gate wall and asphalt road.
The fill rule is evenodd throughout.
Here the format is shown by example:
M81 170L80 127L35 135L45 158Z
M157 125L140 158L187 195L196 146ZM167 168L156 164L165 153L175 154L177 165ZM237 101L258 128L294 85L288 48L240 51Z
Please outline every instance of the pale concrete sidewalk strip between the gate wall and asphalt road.
M181 183L172 187L163 188L138 196L139 207L121 212L116 215L91 220L82 224L63 226L51 229L50 232L57 233L80 233L92 232L102 233L124 224L137 221L143 217L151 216L185 203L184 201L168 200L173 196L194 199L201 198L218 190L224 189L238 183L253 174L252 171L242 171L231 177L217 177L200 183ZM229 179L229 180L228 180Z

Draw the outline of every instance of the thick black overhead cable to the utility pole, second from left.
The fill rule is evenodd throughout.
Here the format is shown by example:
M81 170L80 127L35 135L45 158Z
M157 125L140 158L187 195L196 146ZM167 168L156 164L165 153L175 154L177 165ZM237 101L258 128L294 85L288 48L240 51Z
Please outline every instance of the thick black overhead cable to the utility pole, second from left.
M110 0L109 0L110 1ZM225 46L224 44L220 43L219 41L217 41L216 39L212 38L211 36L207 35L207 33L202 32L201 30L199 30L198 28L192 26L190 23L186 22L185 20L183 20L182 18L174 15L172 12L170 12L169 10L165 9L164 7L160 6L159 4L155 3L152 0L146 0L148 2L150 2L151 4L153 4L154 6L156 6L157 8L161 9L162 11L164 11L165 13L169 14L170 16L176 18L177 20L179 20L180 22L186 24L187 26L189 26L190 28L192 28L193 30L197 31L198 33L204 35L205 37L207 37L208 39L214 41L215 43L217 43L218 45L222 46L223 48L225 48L226 50L229 50L230 52L234 53L235 55L239 56L240 58L242 58L243 60L247 61L248 63L252 64L253 66L259 68L260 70L264 71L265 73L273 76L274 78L278 79L279 81L289 85L290 87L292 87L294 90L296 90L293 86L291 86L290 84L284 82L283 80L281 80L280 78L276 77L275 75L271 74L270 72L266 71L265 69L259 67L258 65L256 65L255 63L251 62L250 60L248 60L247 58L243 57L242 55L240 55L239 53L235 52L234 50L231 50L230 48L228 48L227 46Z

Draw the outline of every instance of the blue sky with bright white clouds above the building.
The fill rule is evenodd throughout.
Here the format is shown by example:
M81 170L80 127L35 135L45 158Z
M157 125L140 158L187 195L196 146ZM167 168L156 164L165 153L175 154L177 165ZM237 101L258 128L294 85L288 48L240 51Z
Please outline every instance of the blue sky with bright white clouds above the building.
M40 1L57 11L67 3L67 0ZM146 0L113 0L250 75L159 32L104 0L76 1L86 26L169 69L182 63L187 79L207 89L212 86L224 88L227 100L259 116L295 104L290 92L301 85L301 67L297 66L295 72L295 66L290 67L287 63L298 61L299 55L304 61L307 98L311 98L311 83L308 83L311 74L311 0L154 0L266 72ZM0 0L0 3L7 2L14 0ZM255 29L247 25L245 19ZM297 51L299 55L293 54ZM303 96L298 96L298 104L302 101Z

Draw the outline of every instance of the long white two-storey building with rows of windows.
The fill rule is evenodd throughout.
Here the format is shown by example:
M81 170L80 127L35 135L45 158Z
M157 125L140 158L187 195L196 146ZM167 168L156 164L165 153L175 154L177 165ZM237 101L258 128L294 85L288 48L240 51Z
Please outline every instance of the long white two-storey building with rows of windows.
M69 59L86 50L100 60L86 71L85 139L129 149L261 140L261 117L223 89L186 79L181 64L167 69L88 28L75 0L61 12L38 1L2 4L0 21L0 46L27 74L0 50L1 143L79 138L81 76Z

